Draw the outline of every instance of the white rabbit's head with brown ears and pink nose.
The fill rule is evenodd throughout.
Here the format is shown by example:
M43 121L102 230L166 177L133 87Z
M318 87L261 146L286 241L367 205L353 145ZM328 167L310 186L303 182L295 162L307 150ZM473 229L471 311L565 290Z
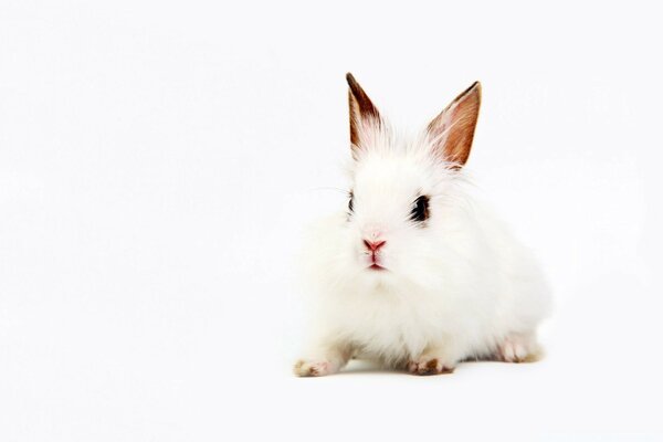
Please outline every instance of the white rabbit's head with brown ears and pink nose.
M351 74L347 81L352 161L344 236L349 265L375 275L413 276L442 253L440 241L457 218L481 85L459 95L421 134L403 139Z

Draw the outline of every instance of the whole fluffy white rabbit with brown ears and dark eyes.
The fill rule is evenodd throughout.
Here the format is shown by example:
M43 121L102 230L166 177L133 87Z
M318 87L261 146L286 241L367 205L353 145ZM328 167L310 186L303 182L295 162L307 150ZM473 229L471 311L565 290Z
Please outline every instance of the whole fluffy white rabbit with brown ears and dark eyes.
M481 84L402 138L347 82L351 185L345 210L304 241L315 308L295 375L332 375L350 358L414 375L536 360L550 291L530 251L472 197L464 169Z

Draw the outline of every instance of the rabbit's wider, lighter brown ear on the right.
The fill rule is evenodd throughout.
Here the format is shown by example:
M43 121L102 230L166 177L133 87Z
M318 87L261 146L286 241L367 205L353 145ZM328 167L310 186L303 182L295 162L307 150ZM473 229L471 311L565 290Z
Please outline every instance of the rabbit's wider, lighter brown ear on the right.
M475 82L429 124L433 152L460 168L467 161L481 106L481 83Z

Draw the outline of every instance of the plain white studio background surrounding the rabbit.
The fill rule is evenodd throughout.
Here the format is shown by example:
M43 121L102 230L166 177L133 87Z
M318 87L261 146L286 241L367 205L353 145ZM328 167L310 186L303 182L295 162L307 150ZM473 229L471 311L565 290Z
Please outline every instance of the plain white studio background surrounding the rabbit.
M0 440L661 440L661 41L636 2L1 1ZM346 71L419 126L482 81L544 361L291 376Z

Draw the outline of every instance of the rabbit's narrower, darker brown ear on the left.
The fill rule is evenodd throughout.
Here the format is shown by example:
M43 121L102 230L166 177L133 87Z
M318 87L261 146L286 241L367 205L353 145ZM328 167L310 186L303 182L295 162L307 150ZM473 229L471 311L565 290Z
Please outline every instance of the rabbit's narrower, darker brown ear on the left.
M359 86L349 72L346 80L350 86L348 91L348 103L350 105L350 143L352 157L357 159L358 150L365 148L362 139L366 140L367 131L381 125L380 114L372 104L366 92Z

